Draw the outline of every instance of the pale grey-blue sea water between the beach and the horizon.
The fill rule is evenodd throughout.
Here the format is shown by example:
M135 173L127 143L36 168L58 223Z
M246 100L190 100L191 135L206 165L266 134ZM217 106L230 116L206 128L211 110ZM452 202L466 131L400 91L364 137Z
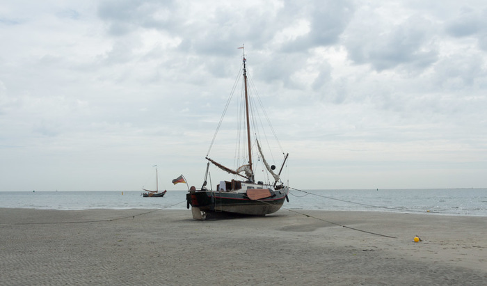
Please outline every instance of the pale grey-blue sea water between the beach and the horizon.
M487 216L487 189L296 190L284 209ZM31 209L186 209L186 191L143 198L141 191L0 191L0 207Z

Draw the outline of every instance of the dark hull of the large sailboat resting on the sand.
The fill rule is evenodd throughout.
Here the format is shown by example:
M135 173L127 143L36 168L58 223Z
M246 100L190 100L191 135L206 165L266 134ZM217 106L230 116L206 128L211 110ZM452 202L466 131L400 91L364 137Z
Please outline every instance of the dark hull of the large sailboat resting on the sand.
M287 199L289 189L271 191L269 198L250 200L246 193L224 191L189 191L186 194L187 207L191 205L201 212L230 212L263 216L277 212ZM193 212L194 213L194 212ZM195 218L196 219L196 218Z

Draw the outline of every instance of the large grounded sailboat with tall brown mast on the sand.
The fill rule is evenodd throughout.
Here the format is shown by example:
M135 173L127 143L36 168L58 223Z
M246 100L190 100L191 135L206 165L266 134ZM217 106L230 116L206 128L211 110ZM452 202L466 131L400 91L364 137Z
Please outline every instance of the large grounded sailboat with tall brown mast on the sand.
M241 47L239 49L243 48L244 47ZM262 124L260 116L266 117L267 115L265 111L257 112L258 106L256 105L260 104L260 106L262 106L262 102L258 100L258 104L255 104L255 98L250 97L250 88L248 88L248 81L250 81L250 79L247 74L245 52L241 70L243 71L241 74L243 75L241 97L243 98L241 99L240 104L237 104L241 106L241 112L237 112L236 114L241 114L241 117L243 118L239 124L241 129L237 128L239 129L237 136L241 138L241 141L243 142L237 143L236 149L244 149L244 151L240 152L236 150L235 157L241 157L241 159L240 161L236 160L234 162L235 168L223 166L223 164L208 157L211 147L216 141L216 135L218 134L218 129L220 129L223 118L225 117L227 107L231 102L230 99L233 97L232 91L207 153L206 159L208 160L208 163L202 187L200 189L195 189L194 186L191 186L189 192L186 193L186 205L188 208L191 206L193 219L204 220L207 217L207 213L212 212L264 216L266 214L277 212L280 207L282 207L285 200L289 201L287 198L289 187L286 186L280 178L288 154L285 154L281 150L283 158L282 165L278 172L276 172L276 166L269 166L269 163L264 157L260 141L269 142L269 139L266 138L266 132L264 132L263 135L260 134L264 128L257 128L257 125ZM240 80L237 79L237 81ZM235 84L235 86L237 86L237 84ZM235 86L233 90L236 89ZM257 96L257 93L255 96ZM270 125L269 118L266 118L266 120ZM252 130L251 127L253 127ZM273 132L271 126L270 129ZM277 139L275 134L273 134L273 137ZM278 145L280 146L280 144ZM237 156L237 154L242 155ZM255 160L253 156L257 157L257 160ZM213 166L224 170L226 173L233 175L233 177L228 180L220 181L214 186L215 189L213 189L209 172L210 163ZM257 168L259 165L262 165L262 172ZM255 180L257 170L259 170L259 173L262 173L262 176L264 177L262 180ZM208 179L210 180L209 186L207 186Z

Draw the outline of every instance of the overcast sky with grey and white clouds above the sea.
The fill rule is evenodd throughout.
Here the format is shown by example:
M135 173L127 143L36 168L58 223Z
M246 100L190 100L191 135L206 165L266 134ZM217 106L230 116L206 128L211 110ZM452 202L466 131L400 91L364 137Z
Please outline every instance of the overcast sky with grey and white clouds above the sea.
M2 1L0 191L201 186L242 44L290 186L487 187L486 1L216 2Z

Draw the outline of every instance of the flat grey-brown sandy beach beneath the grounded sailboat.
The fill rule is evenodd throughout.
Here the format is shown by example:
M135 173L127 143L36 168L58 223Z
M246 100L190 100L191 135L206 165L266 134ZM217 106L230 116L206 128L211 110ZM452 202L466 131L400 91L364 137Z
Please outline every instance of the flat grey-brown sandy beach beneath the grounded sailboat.
M487 282L485 217L298 212L0 209L0 285Z

